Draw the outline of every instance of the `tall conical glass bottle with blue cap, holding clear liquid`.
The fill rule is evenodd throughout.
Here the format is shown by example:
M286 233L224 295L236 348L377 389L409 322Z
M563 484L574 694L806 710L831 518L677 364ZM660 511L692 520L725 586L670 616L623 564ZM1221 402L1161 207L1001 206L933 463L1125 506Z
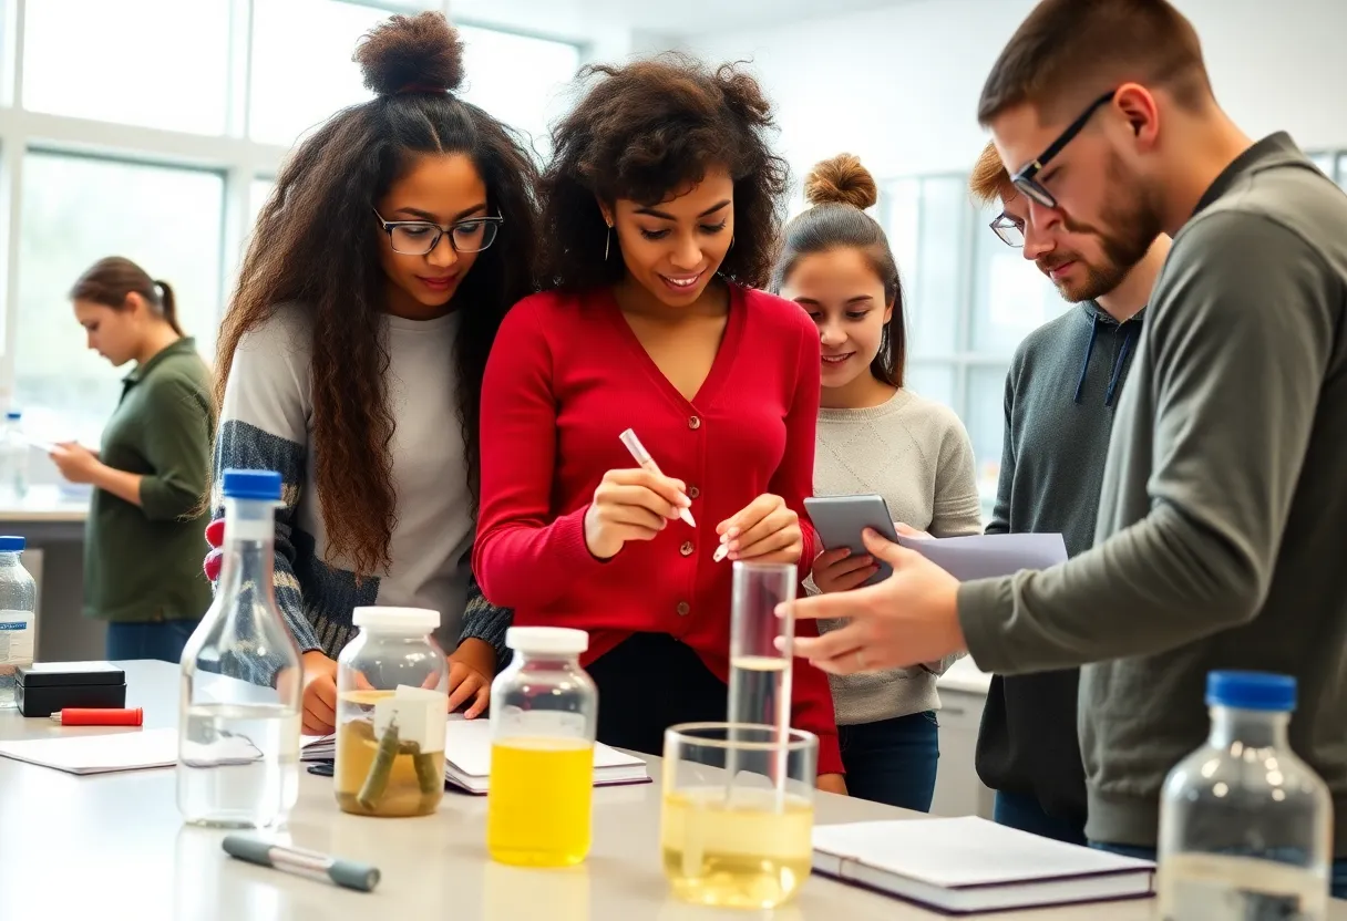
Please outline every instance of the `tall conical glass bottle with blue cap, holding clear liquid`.
M272 582L280 474L226 470L216 601L182 653L178 809L195 825L264 828L299 794L303 673Z

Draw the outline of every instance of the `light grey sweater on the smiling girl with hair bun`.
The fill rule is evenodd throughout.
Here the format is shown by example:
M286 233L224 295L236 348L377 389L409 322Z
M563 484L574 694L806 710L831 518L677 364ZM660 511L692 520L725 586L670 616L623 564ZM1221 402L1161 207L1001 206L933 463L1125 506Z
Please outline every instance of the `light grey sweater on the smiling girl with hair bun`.
M815 496L877 493L896 521L935 537L982 533L973 444L946 405L898 390L878 407L819 409ZM814 578L804 582L818 594ZM847 621L819 621L834 630ZM828 676L839 726L938 710L935 679L954 657L917 668Z

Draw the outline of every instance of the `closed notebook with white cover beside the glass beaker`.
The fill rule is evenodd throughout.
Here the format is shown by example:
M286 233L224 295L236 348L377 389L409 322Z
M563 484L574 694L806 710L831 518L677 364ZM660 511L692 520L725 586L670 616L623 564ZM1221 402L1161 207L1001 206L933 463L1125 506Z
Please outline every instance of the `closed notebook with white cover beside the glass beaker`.
M816 825L814 868L968 914L1142 898L1156 864L964 816Z

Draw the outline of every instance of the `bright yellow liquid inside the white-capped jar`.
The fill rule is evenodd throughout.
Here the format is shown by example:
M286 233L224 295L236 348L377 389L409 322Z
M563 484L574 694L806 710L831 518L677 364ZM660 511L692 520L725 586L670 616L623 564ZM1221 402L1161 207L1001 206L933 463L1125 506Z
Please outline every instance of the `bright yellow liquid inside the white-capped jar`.
M590 848L594 749L567 739L492 745L486 850L524 867L567 867Z

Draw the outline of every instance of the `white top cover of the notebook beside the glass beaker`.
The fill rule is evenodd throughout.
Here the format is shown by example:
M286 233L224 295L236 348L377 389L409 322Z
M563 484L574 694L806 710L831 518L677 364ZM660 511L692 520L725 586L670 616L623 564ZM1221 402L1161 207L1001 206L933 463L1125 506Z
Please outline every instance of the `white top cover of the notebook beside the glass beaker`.
M944 887L1154 866L1149 860L1065 844L977 816L816 825L814 847Z

